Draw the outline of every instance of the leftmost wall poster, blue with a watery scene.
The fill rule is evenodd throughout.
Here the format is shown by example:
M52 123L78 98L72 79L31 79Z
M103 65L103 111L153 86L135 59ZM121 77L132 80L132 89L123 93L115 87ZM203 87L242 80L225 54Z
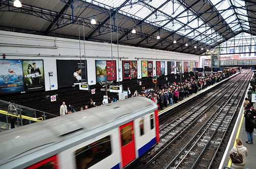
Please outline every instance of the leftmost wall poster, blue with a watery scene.
M22 60L0 60L0 93L24 91Z

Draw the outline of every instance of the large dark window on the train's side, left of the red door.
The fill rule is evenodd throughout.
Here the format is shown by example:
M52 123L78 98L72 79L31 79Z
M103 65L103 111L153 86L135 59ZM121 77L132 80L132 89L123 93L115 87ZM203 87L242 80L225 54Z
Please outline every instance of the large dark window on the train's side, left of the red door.
M89 168L110 155L111 143L108 135L75 151L76 168Z

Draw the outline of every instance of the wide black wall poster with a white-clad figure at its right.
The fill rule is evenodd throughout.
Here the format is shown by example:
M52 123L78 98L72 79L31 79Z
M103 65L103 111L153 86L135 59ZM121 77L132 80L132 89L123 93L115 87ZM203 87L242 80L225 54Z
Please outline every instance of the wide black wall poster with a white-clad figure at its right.
M70 87L86 81L86 63L84 60L57 60L58 87Z

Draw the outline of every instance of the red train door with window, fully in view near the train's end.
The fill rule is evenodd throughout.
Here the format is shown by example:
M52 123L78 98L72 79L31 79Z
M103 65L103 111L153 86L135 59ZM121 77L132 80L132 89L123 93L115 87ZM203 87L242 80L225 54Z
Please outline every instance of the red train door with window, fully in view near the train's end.
M136 158L133 122L120 126L122 167Z

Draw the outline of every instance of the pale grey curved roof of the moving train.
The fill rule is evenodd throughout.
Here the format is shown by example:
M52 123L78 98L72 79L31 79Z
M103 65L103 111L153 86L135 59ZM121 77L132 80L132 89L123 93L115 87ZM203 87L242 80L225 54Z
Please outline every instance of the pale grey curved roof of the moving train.
M76 137L76 144L82 143L156 109L152 100L133 97L3 131L0 134L0 165L67 139L73 139L69 143L74 144Z

